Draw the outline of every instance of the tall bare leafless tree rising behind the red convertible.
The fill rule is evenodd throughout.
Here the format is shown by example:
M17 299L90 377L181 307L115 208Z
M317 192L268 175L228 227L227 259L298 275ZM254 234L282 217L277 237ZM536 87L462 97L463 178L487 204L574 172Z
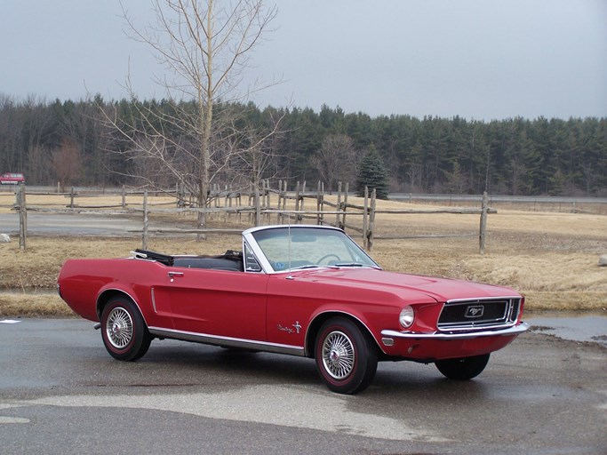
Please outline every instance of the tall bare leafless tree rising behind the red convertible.
M252 90L243 90L244 69L252 51L269 31L276 7L262 0L154 0L156 23L139 28L124 9L129 32L148 44L168 71L157 79L165 91L162 103L139 102L127 79L133 111L120 116L116 109L107 120L131 142L133 160L146 159L154 172L145 179L156 186L159 173L171 174L196 195L199 206L208 204L213 179L236 157L251 150L249 128L235 128L231 103L243 103ZM219 109L219 112L216 112ZM124 118L130 118L124 121ZM277 124L269 127L271 135ZM242 159L242 158L241 158ZM166 178L164 178L166 180ZM204 212L198 222L205 226Z

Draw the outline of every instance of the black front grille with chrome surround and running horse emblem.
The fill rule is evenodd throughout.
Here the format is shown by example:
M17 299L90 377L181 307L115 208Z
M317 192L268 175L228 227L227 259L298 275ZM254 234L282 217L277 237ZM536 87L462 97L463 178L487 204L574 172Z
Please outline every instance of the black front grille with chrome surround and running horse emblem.
M438 330L454 331L513 325L520 298L449 300L438 318Z

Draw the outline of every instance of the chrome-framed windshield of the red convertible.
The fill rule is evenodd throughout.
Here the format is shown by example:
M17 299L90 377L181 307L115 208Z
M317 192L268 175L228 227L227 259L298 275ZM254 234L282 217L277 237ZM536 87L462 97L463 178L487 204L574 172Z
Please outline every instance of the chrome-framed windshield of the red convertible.
M378 267L343 232L322 228L273 228L253 233L275 272L307 267Z

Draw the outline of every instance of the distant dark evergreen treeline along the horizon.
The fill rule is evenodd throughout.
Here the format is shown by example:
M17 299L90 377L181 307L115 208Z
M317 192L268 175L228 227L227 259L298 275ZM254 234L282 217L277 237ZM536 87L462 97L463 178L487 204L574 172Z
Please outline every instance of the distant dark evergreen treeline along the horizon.
M100 96L76 102L15 101L0 95L0 173L23 172L30 185L136 185L136 179L125 175L135 173L125 172L133 168L132 160L115 153L127 148L128 141L108 126L102 111L117 108L118 116L132 116L132 103L137 102ZM172 103L144 103L170 116ZM229 105L231 112L235 109L260 128L269 116L284 115L266 177L293 185L296 180L315 185L327 178L353 178L362 156L375 148L395 192L607 195L607 118L485 122L459 116L371 117L327 106L316 112ZM221 115L221 106L217 111ZM339 147L348 148L338 168L343 172L328 175L323 163L331 152L339 155ZM335 181L326 183L336 187Z

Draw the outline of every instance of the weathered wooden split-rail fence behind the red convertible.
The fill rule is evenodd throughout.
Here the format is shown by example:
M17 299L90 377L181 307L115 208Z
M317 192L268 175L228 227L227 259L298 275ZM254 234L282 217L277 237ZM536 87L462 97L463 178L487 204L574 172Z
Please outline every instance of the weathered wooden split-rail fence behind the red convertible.
M164 204L149 204L148 195L154 193L162 196L171 196L176 202ZM39 194L39 193L38 193ZM122 195L121 204L114 205L79 205L76 200L79 196L84 196L74 188L69 193L52 193L52 195L65 196L69 198L69 204L63 210L59 209L44 209L40 205L27 206L26 204L26 188L24 185L19 185L15 191L16 202L14 209L20 213L20 248L25 249L27 243L27 212L38 210L45 212L76 212L76 211L100 211L107 209L120 209L118 213L142 212L143 227L141 232L142 246L147 247L149 235L152 234L240 234L241 228L225 229L225 228L196 228L196 229L150 229L149 216L153 213L180 213L180 212L204 212L207 215L223 214L228 220L236 215L240 223L244 223L242 216L247 215L246 224L252 226L261 226L268 224L300 224L310 223L316 225L331 225L346 230L352 236L363 237L363 247L371 251L373 243L376 240L393 240L393 239L413 239L413 238L447 238L457 236L476 236L479 240L479 251L481 254L485 250L486 232L487 232L487 215L496 213L489 208L489 198L486 193L483 194L482 205L479 209L469 208L453 208L453 209L393 209L380 210L377 208L377 196L375 190L371 192L365 188L363 205L351 204L348 202L349 187L346 183L339 183L338 191L335 196L327 198L324 192L324 185L318 182L316 191L307 191L306 182L303 184L297 182L294 191L287 189L287 181L279 180L278 189L270 188L268 180L263 180L260 188L254 190L249 188L248 191L232 191L229 188L220 190L219 186L214 186L211 193L211 202L207 207L197 207L192 199L192 196L186 196L183 191L177 188L174 191L151 191L138 190L127 191L124 187L122 192L116 195ZM105 194L105 193L104 193ZM90 196L91 191L86 191L86 195ZM127 204L127 196L140 195L143 196L141 206L133 208ZM107 196L107 195L106 195ZM276 206L273 206L276 198ZM335 202L331 200L336 199ZM243 204L246 200L247 204ZM169 208L167 205L177 205L177 207ZM161 207L164 205L164 207ZM310 207L311 206L311 207ZM480 215L479 230L477 233L464 235L398 235L398 234L381 234L378 232L376 217L377 215L396 215L396 214L432 214L432 213L454 213L454 214L478 214ZM357 219L357 220L356 220ZM275 221L276 220L276 221Z

